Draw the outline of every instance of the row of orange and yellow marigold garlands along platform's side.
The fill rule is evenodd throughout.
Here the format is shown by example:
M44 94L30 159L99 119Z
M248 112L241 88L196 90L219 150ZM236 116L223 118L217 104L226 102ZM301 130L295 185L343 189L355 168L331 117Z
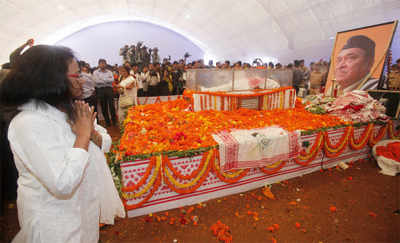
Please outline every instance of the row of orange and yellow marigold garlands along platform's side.
M374 125L372 123L368 124L368 126L365 128L365 130L361 134L360 138L355 139L354 138L354 127L349 126L344 131L344 134L340 138L340 141L335 145L332 145L330 143L330 141L328 139L328 134L326 132L319 132L317 134L317 137L314 141L313 146L309 149L309 152L307 153L304 150L301 151L298 158L295 159L295 162L299 165L307 166L312 160L315 159L315 156L318 154L318 152L322 148L322 143L324 142L324 139L325 139L325 142L324 142L325 154L327 157L331 158L331 157L339 156L341 154L341 152L343 151L343 149L345 148L345 146L347 145L347 143L349 143L349 145L352 149L358 150L358 149L362 149L367 144L368 141L370 144L378 142L385 135L387 129L389 129L389 136L391 136L391 137L396 137L396 136L400 135L400 132L393 131L393 124L391 121L388 124L381 126L378 131L378 134L376 136L374 136L373 128L374 128ZM196 170L194 170L193 172L191 172L190 175L186 175L186 176L179 173L172 166L172 164L167 156L164 156L163 159L161 158L161 156L151 157L151 159L149 161L149 165L146 168L146 172L145 172L144 176L140 179L140 181L134 186L125 187L122 189L123 190L122 196L123 196L125 208L127 210L132 210L135 208L139 208L144 203L146 203L154 195L154 193L158 190L159 186L162 183L162 178L164 175L167 178L165 180L165 184L167 184L171 190L173 190L177 193L180 193L180 194L186 194L186 193L192 193L195 190L197 190L197 188L200 187L203 184L203 182L205 181L205 179L208 177L211 169L214 171L214 173L217 175L217 177L221 181L224 181L226 183L235 183L235 182L239 181L240 179L242 179L244 176L246 176L247 173L249 172L249 169L237 170L235 172L228 172L228 173L223 172L220 170L218 159L217 159L218 157L219 157L219 153L215 149L209 150L208 153L205 152L202 156L202 160L200 162L199 167ZM302 162L299 159L306 160L306 161ZM273 173L276 173L277 171L279 171L285 164L286 164L286 161L278 161L272 165L262 167L262 168L260 168L260 170L266 174L273 174ZM155 166L155 168L154 168L154 166ZM160 169L160 168L162 168L162 169ZM267 168L273 168L273 169L269 170ZM172 175L168 169L172 171ZM143 186L143 184L148 180L148 177L150 176L150 173L152 170L153 170L153 174L151 175L151 178L150 178L149 182L147 183L147 185L145 185L140 192L133 193L133 191L137 190L138 188L141 188ZM181 180L189 180L189 179L193 179L193 180L189 183L184 184L184 183L180 183L179 181L177 181L174 178L174 176ZM193 177L195 177L195 178L193 178ZM126 192L130 192L130 193L126 193ZM134 205L127 205L127 200L138 198L147 192L149 192L149 193L139 203L134 204Z

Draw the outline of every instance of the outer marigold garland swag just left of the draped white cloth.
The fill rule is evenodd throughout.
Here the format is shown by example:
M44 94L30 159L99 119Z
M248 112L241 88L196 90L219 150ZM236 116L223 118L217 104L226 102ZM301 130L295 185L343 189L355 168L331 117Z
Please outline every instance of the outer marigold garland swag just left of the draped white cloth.
M164 169L165 176L167 177L167 180L165 180L165 183L168 185L168 187L175 191L176 193L180 194L187 194L187 193L192 193L194 192L197 188L199 188L204 180L208 177L209 171L210 171L210 160L214 158L213 152L214 150L210 150L207 155L203 154L203 156L206 156L206 162L201 169L201 171L198 173L197 177L194 178L191 182L189 183L180 183L177 181L169 172L167 168ZM212 162L211 162L212 163Z

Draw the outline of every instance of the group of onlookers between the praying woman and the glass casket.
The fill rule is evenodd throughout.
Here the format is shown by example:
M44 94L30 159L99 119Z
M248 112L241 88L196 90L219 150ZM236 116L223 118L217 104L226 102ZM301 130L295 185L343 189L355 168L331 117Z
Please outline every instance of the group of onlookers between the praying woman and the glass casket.
M84 61L79 64L80 78L84 80L82 98L94 107L100 104L106 126L117 125L118 120L123 120L126 107L119 102L116 111L114 104L121 95L129 95L135 105L137 97L181 95L185 86L182 60L148 65L125 62L121 66L111 66L105 59L100 59L94 68Z

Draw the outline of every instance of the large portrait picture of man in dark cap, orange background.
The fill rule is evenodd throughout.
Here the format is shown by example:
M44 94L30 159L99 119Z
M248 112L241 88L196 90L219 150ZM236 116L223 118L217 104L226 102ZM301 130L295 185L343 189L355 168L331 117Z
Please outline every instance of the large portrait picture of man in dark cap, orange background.
M338 32L325 94L377 89L396 27L392 21Z

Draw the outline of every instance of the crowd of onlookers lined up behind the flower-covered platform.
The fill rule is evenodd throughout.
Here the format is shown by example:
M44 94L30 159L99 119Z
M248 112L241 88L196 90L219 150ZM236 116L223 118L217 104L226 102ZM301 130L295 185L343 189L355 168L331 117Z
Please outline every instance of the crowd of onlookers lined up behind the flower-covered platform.
M136 104L136 97L181 95L186 84L186 70L188 69L268 69L268 70L292 70L293 86L298 92L300 88L310 90L310 93L319 93L326 82L329 63L320 60L311 63L310 69L304 65L304 60L295 60L294 65L289 63L282 66L270 63L236 62L230 61L223 64L217 62L214 66L211 62L204 65L203 60L197 60L185 64L184 59L163 63L149 63L148 65L126 61L123 65L108 65L105 59L100 59L97 67L90 67L84 61L80 61L81 78L85 81L82 98L89 104L97 107L100 104L106 126L116 125L122 121L126 109L118 106L115 110L114 100L120 95L129 94Z

